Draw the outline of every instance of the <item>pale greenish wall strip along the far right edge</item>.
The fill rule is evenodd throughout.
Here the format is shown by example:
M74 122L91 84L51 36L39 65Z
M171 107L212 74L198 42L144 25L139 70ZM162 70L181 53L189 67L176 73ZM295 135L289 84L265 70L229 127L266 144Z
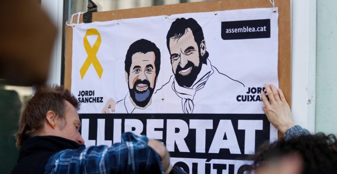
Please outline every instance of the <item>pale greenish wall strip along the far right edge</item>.
M337 1L317 1L316 132L337 135Z

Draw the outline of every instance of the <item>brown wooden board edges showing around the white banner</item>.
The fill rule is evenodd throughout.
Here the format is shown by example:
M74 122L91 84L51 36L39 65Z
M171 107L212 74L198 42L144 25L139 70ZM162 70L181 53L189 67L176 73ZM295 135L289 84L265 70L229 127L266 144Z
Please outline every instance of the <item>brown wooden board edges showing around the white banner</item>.
M183 3L135 9L115 10L92 13L92 21L109 21L127 18L139 18L180 13L211 12L236 9L271 8L269 0L220 0L198 3ZM278 7L278 80L286 100L291 105L291 30L290 30L290 0L277 0ZM80 16L82 23L83 14ZM74 20L77 15L74 16ZM73 27L65 29L65 73L64 85L71 89L71 56L73 52Z

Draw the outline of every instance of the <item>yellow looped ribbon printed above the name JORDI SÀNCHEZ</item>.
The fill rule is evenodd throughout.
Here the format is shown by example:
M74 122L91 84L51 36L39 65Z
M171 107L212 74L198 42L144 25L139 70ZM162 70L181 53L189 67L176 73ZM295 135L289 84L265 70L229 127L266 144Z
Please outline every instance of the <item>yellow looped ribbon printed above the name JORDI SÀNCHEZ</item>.
M93 46L91 47L88 41L88 36L90 35L98 35L97 40L95 41L95 44L93 44ZM100 33L96 30L96 29L88 29L87 32L85 33L85 36L83 38L83 44L84 44L84 49L88 54L87 59L85 60L85 62L83 63L83 66L80 70L80 74L81 77L83 79L85 73L88 71L91 63L93 68L95 68L97 74L99 75L100 79L102 77L102 73L103 73L103 68L101 66L101 63L99 62L99 60L96 57L96 54L98 52L98 49L101 46L101 35Z

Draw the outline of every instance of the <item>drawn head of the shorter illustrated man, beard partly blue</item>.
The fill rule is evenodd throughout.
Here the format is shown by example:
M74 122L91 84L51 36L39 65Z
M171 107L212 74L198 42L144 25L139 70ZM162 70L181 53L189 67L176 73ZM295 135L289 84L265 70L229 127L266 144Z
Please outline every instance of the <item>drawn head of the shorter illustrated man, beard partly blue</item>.
M130 45L125 58L126 81L130 97L137 108L146 108L156 86L160 70L160 51L146 39Z

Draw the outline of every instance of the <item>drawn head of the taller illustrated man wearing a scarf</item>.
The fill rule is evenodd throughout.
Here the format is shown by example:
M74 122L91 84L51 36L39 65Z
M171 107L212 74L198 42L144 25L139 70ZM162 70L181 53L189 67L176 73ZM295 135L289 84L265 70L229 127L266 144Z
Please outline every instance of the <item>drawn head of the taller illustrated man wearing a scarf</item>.
M207 64L208 52L202 28L193 18L178 18L167 32L166 45L176 82L190 88L203 64Z

